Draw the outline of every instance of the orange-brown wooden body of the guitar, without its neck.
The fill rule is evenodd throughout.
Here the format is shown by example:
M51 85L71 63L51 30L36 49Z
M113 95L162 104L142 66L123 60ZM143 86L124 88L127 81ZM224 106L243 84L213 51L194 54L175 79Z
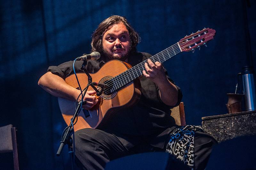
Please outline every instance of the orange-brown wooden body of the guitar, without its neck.
M97 73L90 74L92 80L95 82L104 83L109 79L112 79L118 74L123 73L127 69L131 68L128 63L111 60L105 63ZM88 84L88 78L85 73L77 74L81 88L84 89ZM65 79L66 83L70 86L79 89L75 74L68 76ZM88 90L93 90L89 86ZM111 95L101 95L99 102L89 110L90 116L85 117L84 111L81 110L78 114L78 121L74 125L74 130L80 130L83 128L97 128L103 127L107 124L108 119L114 116L115 112L121 108L129 107L138 102L141 95L140 81L135 79L134 81L126 84L124 87L116 90ZM96 96L97 97L97 96ZM75 101L70 101L64 98L58 98L60 110L65 122L69 125L70 119L75 113Z

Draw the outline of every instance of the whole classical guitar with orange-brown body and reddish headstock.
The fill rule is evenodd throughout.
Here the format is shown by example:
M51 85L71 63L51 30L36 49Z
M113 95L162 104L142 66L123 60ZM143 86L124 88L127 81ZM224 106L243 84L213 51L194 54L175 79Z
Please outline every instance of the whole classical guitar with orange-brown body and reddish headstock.
M159 61L163 63L180 52L194 51L200 49L201 45L215 36L215 30L204 28L201 31L192 33L185 38L180 39L178 43L164 49L163 51L152 56L150 60L154 63ZM104 84L108 84L108 88L104 89L103 94L99 96L99 102L89 110L89 116L85 117L84 110L78 115L78 121L74 125L77 131L83 128L97 128L107 124L111 116L115 116L115 112L120 108L130 107L140 99L140 81L138 77L145 70L144 64L147 60L131 67L128 63L111 60L105 63L97 73L91 74L92 80ZM110 69L111 68L111 69ZM87 85L86 74L77 74L82 89ZM65 79L66 83L74 88L78 88L75 75L72 74ZM92 90L90 87L88 90ZM101 90L101 89L100 89ZM63 98L58 98L62 116L67 124L75 112L75 102Z

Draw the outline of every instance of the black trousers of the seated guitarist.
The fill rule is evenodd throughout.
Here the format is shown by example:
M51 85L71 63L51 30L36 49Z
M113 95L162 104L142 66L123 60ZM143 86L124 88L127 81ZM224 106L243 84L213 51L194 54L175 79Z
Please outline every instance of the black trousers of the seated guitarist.
M195 169L205 168L214 144L217 142L210 135L198 131L195 133ZM110 133L97 129L81 129L75 132L75 151L76 162L81 169L100 170L104 169L107 162L116 158L140 152L165 152L165 149L142 143L128 151L118 138Z

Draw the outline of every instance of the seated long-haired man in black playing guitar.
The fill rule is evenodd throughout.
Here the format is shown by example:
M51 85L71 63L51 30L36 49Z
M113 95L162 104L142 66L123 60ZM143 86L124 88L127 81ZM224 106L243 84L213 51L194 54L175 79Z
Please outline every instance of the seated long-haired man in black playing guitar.
M146 70L140 78L142 96L137 104L116 112L107 127L75 132L76 157L85 169L104 169L108 161L132 153L165 151L169 134L177 129L174 119L170 117L170 108L179 105L181 90L166 76L160 62L153 63L148 59L150 54L137 52L139 41L138 33L120 16L102 21L92 35L92 51L100 52L101 58L87 62L89 73L97 72L104 63L113 59L132 66L148 60L149 66L145 63ZM80 69L82 63L76 62L76 72L83 72ZM38 84L53 96L76 100L80 90L64 81L73 74L72 64L73 61L69 61L49 67ZM84 109L90 110L98 102L92 96L95 93L94 90L86 92ZM196 140L200 135L195 135L196 169L206 166L211 151L209 147L214 144L214 139L208 136Z

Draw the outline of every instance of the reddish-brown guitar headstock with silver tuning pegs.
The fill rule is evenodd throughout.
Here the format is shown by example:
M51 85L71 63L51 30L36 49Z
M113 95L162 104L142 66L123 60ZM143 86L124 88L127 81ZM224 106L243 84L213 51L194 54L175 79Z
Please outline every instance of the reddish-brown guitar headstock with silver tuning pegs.
M185 36L185 38L180 39L178 42L180 49L182 52L184 51L195 51L196 48L205 45L206 42L210 41L214 38L216 31L210 28L204 28L201 31L197 31L196 33L192 33L189 36Z

